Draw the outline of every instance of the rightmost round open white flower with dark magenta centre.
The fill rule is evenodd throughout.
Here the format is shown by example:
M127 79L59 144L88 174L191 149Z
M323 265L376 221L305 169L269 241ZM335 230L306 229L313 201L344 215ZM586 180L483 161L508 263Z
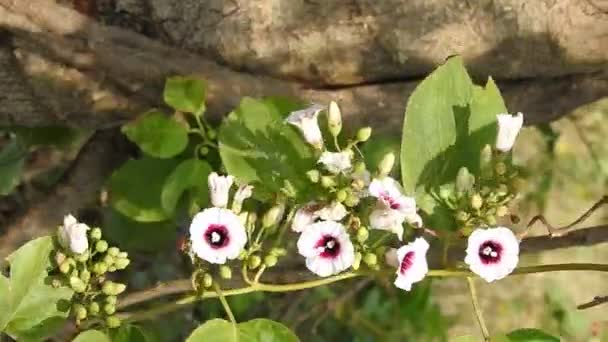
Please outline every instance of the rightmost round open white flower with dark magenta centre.
M519 261L519 241L505 227L476 229L470 236L464 262L487 282L509 275Z

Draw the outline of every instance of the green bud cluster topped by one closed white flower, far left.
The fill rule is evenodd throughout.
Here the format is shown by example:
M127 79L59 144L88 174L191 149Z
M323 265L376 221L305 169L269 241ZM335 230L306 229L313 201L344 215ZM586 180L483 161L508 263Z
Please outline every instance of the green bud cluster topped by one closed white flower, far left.
M53 285L74 290L72 315L80 324L89 317L102 318L110 328L120 326L115 315L117 296L126 285L107 279L108 273L124 270L130 263L127 252L102 239L100 228L89 228L72 215L64 218L57 232L59 248L54 261L59 274Z

